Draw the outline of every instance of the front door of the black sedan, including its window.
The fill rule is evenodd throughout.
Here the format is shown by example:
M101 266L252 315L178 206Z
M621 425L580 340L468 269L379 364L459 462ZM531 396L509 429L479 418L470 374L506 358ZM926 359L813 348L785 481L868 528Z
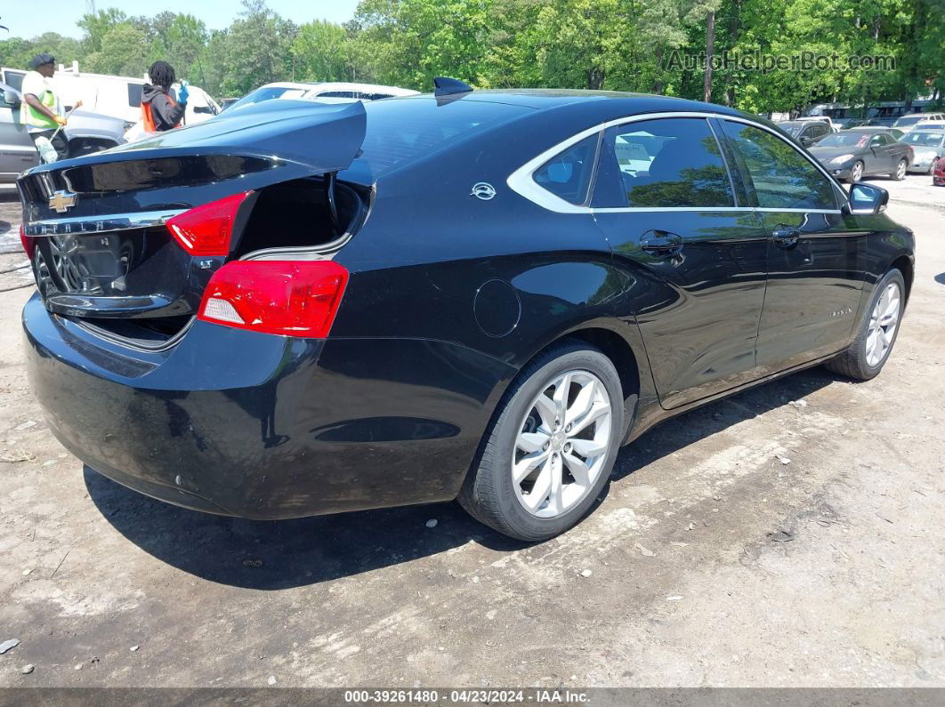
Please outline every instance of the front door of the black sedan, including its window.
M769 238L756 349L766 375L846 345L863 289L867 231L841 211L840 187L774 130L721 123Z

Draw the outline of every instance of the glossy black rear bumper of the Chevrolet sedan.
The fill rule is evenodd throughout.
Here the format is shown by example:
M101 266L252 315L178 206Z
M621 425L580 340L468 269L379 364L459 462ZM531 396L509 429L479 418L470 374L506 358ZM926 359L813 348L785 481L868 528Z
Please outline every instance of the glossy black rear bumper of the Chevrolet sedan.
M449 500L514 371L423 340L309 340L197 321L173 348L23 313L46 419L82 462L209 513L301 517Z

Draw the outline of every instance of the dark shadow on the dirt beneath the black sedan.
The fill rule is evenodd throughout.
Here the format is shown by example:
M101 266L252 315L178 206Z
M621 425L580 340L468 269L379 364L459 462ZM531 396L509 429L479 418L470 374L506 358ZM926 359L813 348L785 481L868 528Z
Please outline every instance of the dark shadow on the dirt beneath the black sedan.
M680 415L623 449L611 481L623 482L649 463L833 380L816 368ZM455 503L251 521L177 508L130 491L89 467L85 483L105 518L136 546L205 580L252 589L351 577L469 542L500 551L524 547L478 524ZM438 521L435 529L426 528L431 518Z

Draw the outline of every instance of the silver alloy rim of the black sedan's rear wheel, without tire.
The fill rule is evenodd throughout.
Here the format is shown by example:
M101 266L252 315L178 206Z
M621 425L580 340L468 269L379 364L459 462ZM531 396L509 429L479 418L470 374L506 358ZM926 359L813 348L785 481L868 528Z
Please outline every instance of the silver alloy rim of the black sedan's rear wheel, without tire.
M568 371L545 386L512 454L512 485L525 511L554 518L587 497L606 468L611 417L607 388L589 371Z

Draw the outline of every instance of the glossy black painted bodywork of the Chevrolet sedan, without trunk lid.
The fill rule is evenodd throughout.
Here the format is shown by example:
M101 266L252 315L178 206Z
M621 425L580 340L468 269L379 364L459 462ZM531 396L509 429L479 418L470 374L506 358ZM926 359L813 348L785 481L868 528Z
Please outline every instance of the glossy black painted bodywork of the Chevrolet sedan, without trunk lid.
M448 110L456 100L532 110L376 182L357 160L339 174L372 186L375 198L335 253L351 279L327 340L196 321L174 345L145 351L50 313L34 295L24 311L27 370L63 444L112 479L214 513L283 518L449 500L508 384L562 337L615 358L628 442L678 412L841 350L890 264L911 275L911 233L885 214L617 219L553 213L506 183L542 150L615 118L734 110L571 92L438 102ZM176 159L173 148L161 154ZM105 165L109 156L91 160ZM480 181L495 198L470 194ZM185 184L171 189L180 191L169 201L187 198ZM161 189L139 194L163 198ZM42 212L32 203L25 215ZM772 222L797 227L798 242L775 244ZM640 248L641 234L670 227L686 239L683 263ZM763 300L775 298L782 309L763 315Z

